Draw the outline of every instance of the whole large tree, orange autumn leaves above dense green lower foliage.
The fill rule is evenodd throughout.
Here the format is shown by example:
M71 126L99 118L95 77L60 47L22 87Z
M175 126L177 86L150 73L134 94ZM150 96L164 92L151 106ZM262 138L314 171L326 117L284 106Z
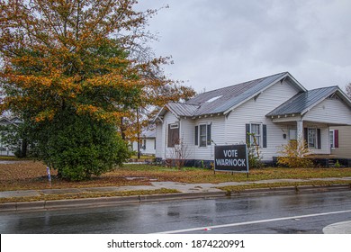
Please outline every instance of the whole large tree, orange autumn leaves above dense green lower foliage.
M136 12L134 4L0 2L1 110L22 118L37 157L68 179L121 163L120 119L163 100L157 90L177 90L162 75L167 58L140 60L138 43L149 38L144 28L156 11Z

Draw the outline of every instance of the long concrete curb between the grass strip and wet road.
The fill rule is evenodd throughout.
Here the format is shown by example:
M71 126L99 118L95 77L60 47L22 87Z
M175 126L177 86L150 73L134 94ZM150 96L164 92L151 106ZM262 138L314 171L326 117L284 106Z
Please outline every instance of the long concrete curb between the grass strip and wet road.
M150 194L139 196L117 196L87 199L70 199L58 201L39 201L39 202L6 202L0 204L0 212L8 211L47 211L61 210L76 207L103 207L130 203L179 201L192 199L212 199L219 197L235 196L255 196L265 194L286 194L286 193L311 193L311 192L330 192L351 190L350 184L331 184L331 185L300 185L271 188L247 189L241 192L202 192L202 193L168 193Z

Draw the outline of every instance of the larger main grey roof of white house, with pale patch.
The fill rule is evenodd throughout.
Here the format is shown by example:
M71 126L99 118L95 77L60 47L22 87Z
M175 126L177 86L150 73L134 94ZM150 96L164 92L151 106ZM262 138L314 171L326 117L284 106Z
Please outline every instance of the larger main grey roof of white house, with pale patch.
M304 87L293 79L293 76L284 72L198 94L186 103L168 103L166 107L178 116L229 112L235 106L244 103L285 77L293 80L301 91L305 91Z

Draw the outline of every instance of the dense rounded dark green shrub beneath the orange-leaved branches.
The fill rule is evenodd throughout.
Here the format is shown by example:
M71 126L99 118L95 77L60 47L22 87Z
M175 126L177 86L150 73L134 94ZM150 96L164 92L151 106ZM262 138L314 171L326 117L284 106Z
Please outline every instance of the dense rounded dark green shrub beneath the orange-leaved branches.
M47 127L53 130L40 140L40 156L58 175L72 181L102 175L130 157L127 144L117 130L102 121L70 114ZM48 130L48 129L46 129Z

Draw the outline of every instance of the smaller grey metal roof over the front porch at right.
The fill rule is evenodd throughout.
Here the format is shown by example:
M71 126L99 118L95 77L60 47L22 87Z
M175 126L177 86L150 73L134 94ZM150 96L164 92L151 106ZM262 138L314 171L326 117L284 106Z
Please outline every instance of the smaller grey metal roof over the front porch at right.
M291 99L269 112L266 116L278 116L286 114L302 114L312 106L334 94L338 86L322 87L294 95Z

